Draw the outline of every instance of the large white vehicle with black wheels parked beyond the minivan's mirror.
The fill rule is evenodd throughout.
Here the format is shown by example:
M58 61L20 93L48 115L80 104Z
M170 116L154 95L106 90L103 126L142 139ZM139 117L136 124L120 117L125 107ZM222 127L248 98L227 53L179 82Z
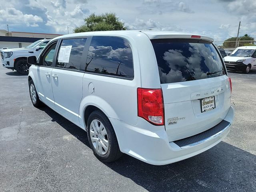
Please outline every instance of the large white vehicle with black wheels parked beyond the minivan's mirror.
M38 40L25 48L1 50L1 61L5 68L16 70L20 74L28 74L30 65L27 62L29 56L39 56L50 39Z

